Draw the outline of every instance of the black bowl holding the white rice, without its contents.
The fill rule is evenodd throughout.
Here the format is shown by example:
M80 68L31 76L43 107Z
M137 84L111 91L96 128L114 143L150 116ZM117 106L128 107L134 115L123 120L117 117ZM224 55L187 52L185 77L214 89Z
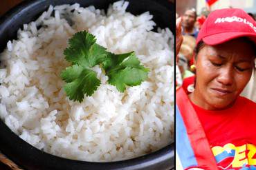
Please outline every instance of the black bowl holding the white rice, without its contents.
M80 3L81 6L93 5L98 9L107 9L116 0L35 0L24 1L0 18L0 52L8 40L17 38L17 30L24 23L34 21L49 5ZM149 11L153 20L161 28L170 28L174 32L174 3L168 0L126 0L127 11L141 14ZM0 120L0 150L8 158L24 169L172 169L174 167L174 143L145 156L117 162L85 162L69 160L45 153L19 138L2 120Z

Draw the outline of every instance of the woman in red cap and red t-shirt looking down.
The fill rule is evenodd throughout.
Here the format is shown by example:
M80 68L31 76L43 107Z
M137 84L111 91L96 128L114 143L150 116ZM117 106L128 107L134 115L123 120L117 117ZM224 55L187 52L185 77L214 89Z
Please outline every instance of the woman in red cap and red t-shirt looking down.
M178 20L176 54L181 41ZM256 169L256 103L239 96L254 69L255 46L256 23L244 10L216 10L203 23L194 92L176 91L176 152L183 169Z

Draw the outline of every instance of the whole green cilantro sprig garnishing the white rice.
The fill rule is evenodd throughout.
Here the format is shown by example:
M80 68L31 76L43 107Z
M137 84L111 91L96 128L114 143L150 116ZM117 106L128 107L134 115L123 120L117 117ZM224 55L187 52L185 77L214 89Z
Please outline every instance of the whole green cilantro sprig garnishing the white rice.
M140 85L149 72L134 52L107 52L96 43L95 36L86 31L77 32L68 40L64 55L66 61L72 63L61 73L62 80L66 82L64 91L69 99L80 103L85 95L92 96L100 86L96 72L91 70L95 65L100 65L109 77L108 83L116 86L119 92L125 92L127 86Z

